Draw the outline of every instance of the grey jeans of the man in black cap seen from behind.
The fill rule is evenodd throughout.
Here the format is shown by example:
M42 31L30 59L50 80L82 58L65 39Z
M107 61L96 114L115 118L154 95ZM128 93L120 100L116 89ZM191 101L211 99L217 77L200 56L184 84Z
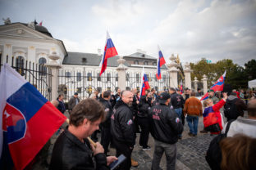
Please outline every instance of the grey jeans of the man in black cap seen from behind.
M162 159L162 154L165 152L167 159L167 170L175 169L176 165L176 144L167 144L162 141L155 140L155 150L153 152L152 170L161 169L159 163Z

